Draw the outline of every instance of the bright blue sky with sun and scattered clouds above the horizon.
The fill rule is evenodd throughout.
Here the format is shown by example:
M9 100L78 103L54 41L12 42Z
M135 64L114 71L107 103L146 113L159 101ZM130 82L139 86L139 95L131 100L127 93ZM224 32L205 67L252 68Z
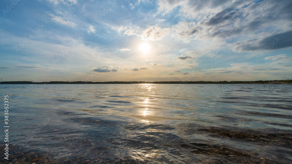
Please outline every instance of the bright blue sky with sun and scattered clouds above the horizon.
M291 0L3 0L2 81L291 79Z

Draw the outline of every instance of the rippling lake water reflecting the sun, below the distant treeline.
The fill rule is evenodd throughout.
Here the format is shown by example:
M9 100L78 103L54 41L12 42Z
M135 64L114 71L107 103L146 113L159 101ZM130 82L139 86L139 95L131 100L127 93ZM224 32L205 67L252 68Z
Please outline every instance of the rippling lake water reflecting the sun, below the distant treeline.
M3 163L292 163L290 84L0 89L1 106L10 101Z

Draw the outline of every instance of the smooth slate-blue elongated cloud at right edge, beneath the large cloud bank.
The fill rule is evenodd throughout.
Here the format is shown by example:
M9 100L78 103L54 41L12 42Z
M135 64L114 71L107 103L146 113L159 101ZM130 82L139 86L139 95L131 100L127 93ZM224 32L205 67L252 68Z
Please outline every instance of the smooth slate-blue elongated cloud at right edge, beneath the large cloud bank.
M232 43L236 52L267 51L292 47L292 31L273 34L266 38L256 38Z

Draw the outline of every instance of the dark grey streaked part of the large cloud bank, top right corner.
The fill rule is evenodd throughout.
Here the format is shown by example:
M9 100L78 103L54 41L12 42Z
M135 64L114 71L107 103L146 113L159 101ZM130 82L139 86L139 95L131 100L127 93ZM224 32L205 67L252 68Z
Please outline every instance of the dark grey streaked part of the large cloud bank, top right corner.
M219 5L218 3L216 5ZM245 3L245 7L242 6L242 3ZM257 3L252 1L230 2L224 7L221 6L223 10L211 16L209 20L202 20L198 25L201 29L208 31L203 33L204 38L220 37L225 40L252 33L256 36L263 31L288 30L287 27L291 26L289 22L292 20L292 1L264 3L262 1Z

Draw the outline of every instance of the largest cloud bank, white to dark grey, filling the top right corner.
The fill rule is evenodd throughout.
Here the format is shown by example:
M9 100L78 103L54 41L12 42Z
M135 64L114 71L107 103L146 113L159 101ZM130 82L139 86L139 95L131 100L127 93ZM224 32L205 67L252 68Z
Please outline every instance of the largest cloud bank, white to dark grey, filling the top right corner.
M175 14L183 18L171 30L174 38L186 43L191 40L251 38L257 37L257 32L291 30L292 12L289 8L292 1L159 0L158 5L162 15ZM269 12L271 10L273 12ZM187 21L194 19L197 21Z

